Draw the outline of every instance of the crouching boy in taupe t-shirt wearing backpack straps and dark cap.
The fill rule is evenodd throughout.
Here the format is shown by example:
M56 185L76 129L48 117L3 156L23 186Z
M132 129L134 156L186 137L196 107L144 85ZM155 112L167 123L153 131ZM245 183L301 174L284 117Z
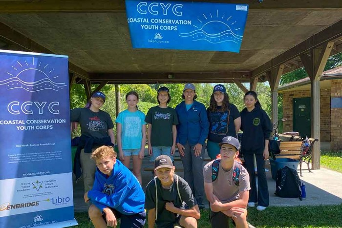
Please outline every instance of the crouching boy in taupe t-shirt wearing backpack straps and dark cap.
M204 190L210 202L210 222L213 228L228 228L231 217L236 228L247 228L247 204L249 198L249 175L235 161L239 141L224 137L220 145L221 159L204 166Z

